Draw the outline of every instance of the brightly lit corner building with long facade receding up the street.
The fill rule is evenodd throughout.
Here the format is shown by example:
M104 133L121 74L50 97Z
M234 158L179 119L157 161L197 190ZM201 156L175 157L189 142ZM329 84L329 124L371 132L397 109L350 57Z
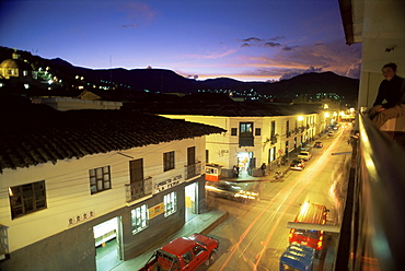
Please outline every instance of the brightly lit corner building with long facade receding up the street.
M327 129L323 114L230 117L196 115L161 115L192 122L217 126L225 133L207 136L208 164L222 167L222 176L231 177L232 168L252 176L262 176L259 167L267 168L288 158L298 148L305 146Z

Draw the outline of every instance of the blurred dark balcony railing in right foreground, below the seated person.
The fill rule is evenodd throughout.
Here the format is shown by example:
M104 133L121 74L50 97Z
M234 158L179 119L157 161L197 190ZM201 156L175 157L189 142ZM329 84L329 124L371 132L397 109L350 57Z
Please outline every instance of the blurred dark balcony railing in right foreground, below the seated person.
M335 270L402 270L405 151L359 116Z

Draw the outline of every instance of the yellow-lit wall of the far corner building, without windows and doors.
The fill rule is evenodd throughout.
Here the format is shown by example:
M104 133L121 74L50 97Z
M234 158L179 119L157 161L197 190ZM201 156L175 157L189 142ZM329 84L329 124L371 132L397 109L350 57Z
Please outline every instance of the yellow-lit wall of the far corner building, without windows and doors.
M167 118L185 119L187 121L199 122L221 127L227 130L222 134L210 134L207 137L207 150L209 152L208 162L221 165L222 175L230 177L233 165L238 163L236 155L240 152L253 152L256 158L256 167L269 161L269 149L275 148L276 160L286 155L286 142L289 145L289 152L293 151L294 144L297 148L304 142L315 138L317 133L317 121L321 121L319 114L302 115L303 120L298 121L299 115L291 116L269 116L269 117L221 117L221 116L192 116L192 115L162 115ZM310 117L313 118L313 125L309 122ZM275 133L279 134L277 142L271 144L270 139L271 121L276 121ZM312 125L310 129L298 134L291 132L287 137L287 121L289 121L289 130L293 130L296 121L298 127ZM240 122L253 122L254 146L239 146ZM238 128L238 136L231 136L231 129ZM255 128L261 128L261 136L255 136ZM302 140L301 140L302 134ZM294 138L297 137L297 143ZM280 153L279 150L282 152ZM276 163L276 161L274 162ZM229 176L228 176L229 175Z

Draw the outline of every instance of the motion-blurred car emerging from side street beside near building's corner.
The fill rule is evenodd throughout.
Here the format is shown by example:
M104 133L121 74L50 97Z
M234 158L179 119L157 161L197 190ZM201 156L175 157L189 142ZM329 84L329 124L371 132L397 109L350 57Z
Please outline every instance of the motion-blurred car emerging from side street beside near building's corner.
M208 196L242 202L258 199L257 192L245 191L242 187L229 181L207 181L206 191Z

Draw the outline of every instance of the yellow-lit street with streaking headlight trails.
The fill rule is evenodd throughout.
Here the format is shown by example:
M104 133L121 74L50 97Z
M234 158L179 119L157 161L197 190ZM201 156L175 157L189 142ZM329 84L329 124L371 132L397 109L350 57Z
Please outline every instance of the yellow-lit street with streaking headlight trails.
M300 205L321 203L329 210L326 224L338 225L346 195L345 175L351 146L349 130L322 138L324 146L312 149L312 158L302 172L289 170L282 179L245 184L259 192L259 200L245 203L208 198L211 208L229 212L229 219L210 235L220 240L217 261L200 270L279 270L279 258L289 245L288 222L293 222ZM325 233L324 247L313 270L333 270L338 234Z

